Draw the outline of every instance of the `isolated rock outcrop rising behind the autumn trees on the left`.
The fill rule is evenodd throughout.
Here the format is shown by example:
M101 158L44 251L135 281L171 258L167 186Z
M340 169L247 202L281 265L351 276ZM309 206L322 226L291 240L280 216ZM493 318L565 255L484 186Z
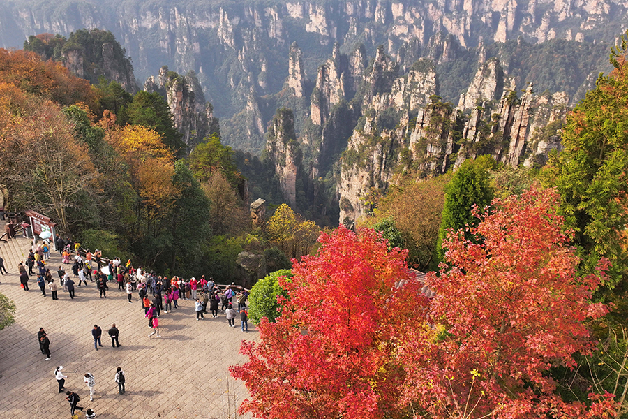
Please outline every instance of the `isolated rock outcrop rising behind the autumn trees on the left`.
M147 79L144 90L149 93L158 92L165 97L172 112L174 127L183 134L182 140L188 149L202 141L206 135L220 134L214 108L205 101L193 71L182 76L163 66L157 77L151 76Z

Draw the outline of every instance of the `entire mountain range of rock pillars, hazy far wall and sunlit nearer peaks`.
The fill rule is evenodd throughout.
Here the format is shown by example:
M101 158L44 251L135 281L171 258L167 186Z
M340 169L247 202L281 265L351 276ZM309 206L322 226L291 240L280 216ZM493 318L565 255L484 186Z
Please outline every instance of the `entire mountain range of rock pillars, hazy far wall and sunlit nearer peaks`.
M98 27L120 41L139 87L148 79L147 89L163 89L163 66L191 77L188 108L206 114L203 124L219 117L223 142L264 152L283 200L319 216L333 207L341 221L368 212L364 198L409 168L439 173L479 154L541 164L560 147L567 110L608 70L628 13L612 0L37 0L3 9L2 47ZM181 95L170 94L173 111ZM179 119L182 131L200 124Z

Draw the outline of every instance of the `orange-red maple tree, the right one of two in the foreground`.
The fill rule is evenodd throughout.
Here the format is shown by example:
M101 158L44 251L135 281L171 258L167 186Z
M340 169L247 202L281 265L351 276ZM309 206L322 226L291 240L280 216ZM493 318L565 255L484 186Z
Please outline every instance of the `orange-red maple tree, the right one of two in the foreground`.
M612 410L610 395L588 408L555 392L551 367L574 367L574 353L592 349L584 322L606 313L590 301L604 263L598 275L577 277L558 204L555 191L532 187L483 214L475 208L474 241L449 232L449 265L426 279L433 328L399 337L404 399L425 417L575 419Z

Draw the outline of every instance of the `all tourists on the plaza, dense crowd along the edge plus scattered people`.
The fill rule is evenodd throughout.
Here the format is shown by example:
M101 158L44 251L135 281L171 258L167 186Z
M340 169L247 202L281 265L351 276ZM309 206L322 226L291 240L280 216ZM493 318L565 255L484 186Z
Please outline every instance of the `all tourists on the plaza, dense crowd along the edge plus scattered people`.
M133 304L133 294L137 293L142 313L144 318L148 319L148 325L151 328L151 333L148 335L149 339L153 336L160 337L160 316L179 309L180 300L193 300L196 321L203 320L206 314L211 314L213 318L225 316L228 325L235 328L237 327L236 320L239 318L242 332L248 332L246 307L248 290L240 286L233 283L228 286L219 286L211 277L206 279L204 275L200 279L195 277L184 279L177 276L168 278L158 275L154 271L144 270L142 267L136 268L130 260L123 263L120 258L104 258L101 251L92 252L90 249L83 249L80 243L57 237L55 244L62 258L56 275L53 274L54 267L50 267L50 242L44 240L40 244L36 244L33 241L33 247L29 251L26 261L18 264L20 286L24 291L29 291L29 279L33 275L37 278L36 282L41 295L47 297L47 291L50 291L52 300L59 300L59 291L61 290L68 293L70 299L74 299L77 297L76 288L87 287L88 283L96 286L100 298L107 298L107 291L117 286L119 292L126 293L129 304ZM94 337L94 348L98 351L98 347L103 346L100 342L102 330L98 325L94 325L91 333ZM112 325L108 333L112 338L112 346L114 348L119 347L119 331L115 324ZM38 332L38 341L41 352L46 356L45 360L50 360L50 338L43 328L40 328ZM61 369L63 367L59 366L54 371L54 376L59 383L59 392L63 392L65 389L64 383L65 378L67 378ZM120 367L117 369L115 380L119 385L120 394L124 394L125 378ZM92 400L94 397L94 376L91 373L86 373L84 381L90 390L90 400ZM83 409L78 406L80 396L76 392L67 391L66 395L72 414ZM96 413L88 409L86 417L95 418Z

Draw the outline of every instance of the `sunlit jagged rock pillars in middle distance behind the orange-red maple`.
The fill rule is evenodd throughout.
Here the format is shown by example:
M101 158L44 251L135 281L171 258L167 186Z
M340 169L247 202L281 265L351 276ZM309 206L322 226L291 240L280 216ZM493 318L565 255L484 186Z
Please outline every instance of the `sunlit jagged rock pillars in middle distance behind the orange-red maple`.
M530 84L519 97L503 80L509 77L493 59L479 68L458 108L438 96L431 96L431 103L421 103L418 110L412 101L390 101L385 109L397 110L394 128L390 123L384 127L384 109L373 102L341 156L336 184L340 221L368 214L375 197L403 170L438 175L481 154L509 166L544 164L551 149L560 149L569 96L536 96ZM426 84L410 90L410 97L421 98L433 91Z

